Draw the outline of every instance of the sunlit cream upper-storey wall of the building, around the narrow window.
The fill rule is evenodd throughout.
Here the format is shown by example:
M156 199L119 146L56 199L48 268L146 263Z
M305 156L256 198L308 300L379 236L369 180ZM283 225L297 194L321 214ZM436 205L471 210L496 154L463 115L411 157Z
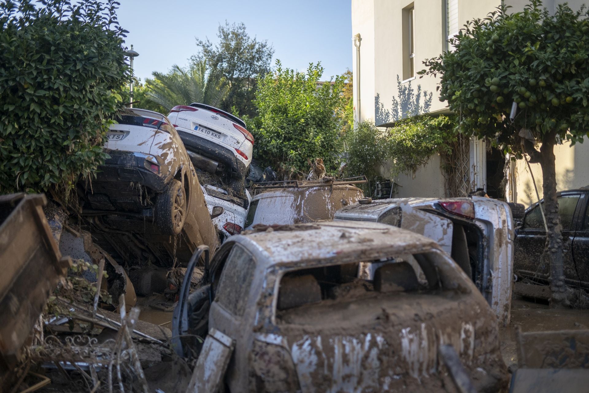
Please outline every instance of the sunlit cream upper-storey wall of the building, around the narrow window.
M360 33L360 121L376 125L391 123L406 115L431 113L446 108L439 101L439 78L427 76L403 81L402 10L415 8L415 71L425 68L426 58L437 57L445 48L445 2L442 0L352 0L352 35ZM458 24L484 17L499 0L459 0ZM352 42L355 81L356 48ZM358 103L357 91L355 104Z

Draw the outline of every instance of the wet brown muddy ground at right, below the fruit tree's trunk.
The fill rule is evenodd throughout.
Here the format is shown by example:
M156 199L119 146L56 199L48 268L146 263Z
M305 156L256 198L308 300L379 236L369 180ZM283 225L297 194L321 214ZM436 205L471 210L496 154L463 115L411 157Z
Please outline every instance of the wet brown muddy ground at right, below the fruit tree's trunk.
M515 331L544 332L589 329L589 311L580 309L550 309L546 302L514 295L511 302L511 322L499 330L501 355L509 368L517 368Z

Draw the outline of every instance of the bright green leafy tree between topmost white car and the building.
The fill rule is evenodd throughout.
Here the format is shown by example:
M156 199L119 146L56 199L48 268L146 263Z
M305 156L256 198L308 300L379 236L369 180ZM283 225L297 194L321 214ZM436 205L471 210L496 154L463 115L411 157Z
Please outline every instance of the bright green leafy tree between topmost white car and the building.
M259 114L249 130L256 139L254 157L282 173L308 173L307 158L323 158L327 171L335 171L342 143L344 78L317 87L323 75L320 63L306 73L282 68L258 78L254 104Z

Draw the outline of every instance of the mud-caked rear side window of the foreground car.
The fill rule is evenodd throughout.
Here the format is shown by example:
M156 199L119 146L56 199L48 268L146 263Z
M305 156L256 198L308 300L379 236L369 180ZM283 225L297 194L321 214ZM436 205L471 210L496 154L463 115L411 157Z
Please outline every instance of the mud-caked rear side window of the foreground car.
M250 253L240 245L233 246L223 266L216 296L220 305L233 315L243 315L255 267L256 263Z

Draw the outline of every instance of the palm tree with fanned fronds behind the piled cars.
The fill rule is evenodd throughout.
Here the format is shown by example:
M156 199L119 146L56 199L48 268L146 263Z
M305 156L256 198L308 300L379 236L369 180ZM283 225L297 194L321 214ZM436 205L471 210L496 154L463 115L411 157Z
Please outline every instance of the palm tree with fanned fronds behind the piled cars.
M207 69L206 60L187 68L173 65L167 74L154 71L152 75L153 79L145 81L147 98L167 110L191 103L218 107L229 90L223 79L211 76L214 72Z

